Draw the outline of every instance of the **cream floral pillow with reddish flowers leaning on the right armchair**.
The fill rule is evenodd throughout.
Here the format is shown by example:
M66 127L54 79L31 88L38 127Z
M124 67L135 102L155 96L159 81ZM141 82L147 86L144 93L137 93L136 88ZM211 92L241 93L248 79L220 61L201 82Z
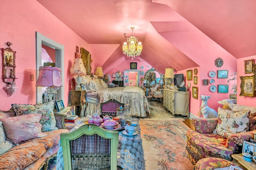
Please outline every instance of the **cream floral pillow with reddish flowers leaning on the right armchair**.
M248 131L250 110L232 111L218 108L218 123L213 133L228 138L235 133Z

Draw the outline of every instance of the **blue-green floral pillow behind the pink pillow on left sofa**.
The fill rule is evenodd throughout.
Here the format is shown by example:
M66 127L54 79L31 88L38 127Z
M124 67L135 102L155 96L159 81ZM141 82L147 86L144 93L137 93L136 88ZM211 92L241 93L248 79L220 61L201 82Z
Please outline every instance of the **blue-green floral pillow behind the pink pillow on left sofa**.
M42 125L42 132L57 130L56 119L54 116L54 100L37 105L29 104L12 104L16 115L26 115L26 114L42 114L42 118L39 121Z

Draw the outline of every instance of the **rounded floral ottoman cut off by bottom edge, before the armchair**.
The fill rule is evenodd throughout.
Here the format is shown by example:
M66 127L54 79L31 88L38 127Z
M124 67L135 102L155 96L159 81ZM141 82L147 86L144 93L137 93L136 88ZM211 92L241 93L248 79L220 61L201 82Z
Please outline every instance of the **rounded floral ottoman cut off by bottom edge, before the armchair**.
M202 158L196 162L194 170L213 170L214 168L224 168L229 167L230 165L238 166L237 164L222 158ZM240 168L240 166L238 167Z

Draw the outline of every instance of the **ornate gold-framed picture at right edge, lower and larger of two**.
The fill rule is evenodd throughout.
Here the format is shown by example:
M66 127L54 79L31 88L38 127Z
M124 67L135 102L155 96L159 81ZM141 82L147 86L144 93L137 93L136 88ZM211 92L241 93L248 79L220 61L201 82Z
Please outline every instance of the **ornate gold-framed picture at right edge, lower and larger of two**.
M241 79L241 92L239 96L248 96L248 97L255 97L254 91L254 76L240 76Z

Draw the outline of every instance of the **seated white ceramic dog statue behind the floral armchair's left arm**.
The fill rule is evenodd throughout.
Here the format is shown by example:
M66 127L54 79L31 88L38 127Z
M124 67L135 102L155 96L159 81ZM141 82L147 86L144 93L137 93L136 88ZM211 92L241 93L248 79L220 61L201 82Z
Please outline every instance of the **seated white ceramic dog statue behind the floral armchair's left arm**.
M202 100L202 104L200 106L200 111L204 118L217 118L218 113L207 104L207 100L210 98L210 96L201 95L200 99Z

